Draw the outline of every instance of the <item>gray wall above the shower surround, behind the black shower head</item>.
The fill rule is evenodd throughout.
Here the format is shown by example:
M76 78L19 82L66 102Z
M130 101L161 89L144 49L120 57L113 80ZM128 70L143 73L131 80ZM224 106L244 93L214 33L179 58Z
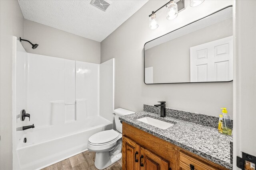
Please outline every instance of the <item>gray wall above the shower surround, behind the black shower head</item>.
M23 42L28 53L100 64L100 43L72 33L24 20L24 39L39 46L32 49Z

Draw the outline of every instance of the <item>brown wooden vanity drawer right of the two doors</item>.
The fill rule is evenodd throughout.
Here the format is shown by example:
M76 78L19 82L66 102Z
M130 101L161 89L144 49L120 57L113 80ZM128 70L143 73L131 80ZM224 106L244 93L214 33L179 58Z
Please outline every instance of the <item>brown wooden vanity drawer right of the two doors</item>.
M179 166L182 170L218 170L184 152L180 152Z

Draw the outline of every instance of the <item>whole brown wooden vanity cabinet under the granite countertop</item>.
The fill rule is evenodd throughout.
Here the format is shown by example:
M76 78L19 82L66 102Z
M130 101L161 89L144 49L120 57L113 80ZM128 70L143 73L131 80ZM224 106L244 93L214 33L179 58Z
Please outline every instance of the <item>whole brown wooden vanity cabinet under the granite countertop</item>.
M228 170L123 122L122 170Z

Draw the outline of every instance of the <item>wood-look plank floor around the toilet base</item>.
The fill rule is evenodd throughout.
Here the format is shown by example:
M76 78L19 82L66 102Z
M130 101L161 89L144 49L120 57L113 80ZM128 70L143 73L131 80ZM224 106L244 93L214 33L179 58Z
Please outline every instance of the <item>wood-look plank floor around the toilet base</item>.
M97 170L94 166L95 152L89 152L88 150L62 160L56 164L43 168L42 170ZM121 170L122 159L112 164L104 170Z

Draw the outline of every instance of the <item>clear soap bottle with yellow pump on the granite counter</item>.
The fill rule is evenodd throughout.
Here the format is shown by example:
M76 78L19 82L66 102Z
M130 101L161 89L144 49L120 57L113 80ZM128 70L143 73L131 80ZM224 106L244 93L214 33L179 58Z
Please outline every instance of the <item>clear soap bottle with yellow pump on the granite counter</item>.
M232 135L232 124L230 115L228 115L227 108L222 109L222 134L223 135Z

